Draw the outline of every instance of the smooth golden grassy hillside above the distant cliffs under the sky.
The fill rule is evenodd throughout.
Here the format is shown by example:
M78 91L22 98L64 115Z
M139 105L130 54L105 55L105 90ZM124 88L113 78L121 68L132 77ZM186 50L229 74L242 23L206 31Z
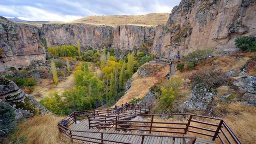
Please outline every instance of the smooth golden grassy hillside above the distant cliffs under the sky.
M50 24L83 23L98 26L107 25L113 27L116 27L117 25L157 26L166 24L169 14L170 13L150 13L145 15L87 16L70 22L51 22Z

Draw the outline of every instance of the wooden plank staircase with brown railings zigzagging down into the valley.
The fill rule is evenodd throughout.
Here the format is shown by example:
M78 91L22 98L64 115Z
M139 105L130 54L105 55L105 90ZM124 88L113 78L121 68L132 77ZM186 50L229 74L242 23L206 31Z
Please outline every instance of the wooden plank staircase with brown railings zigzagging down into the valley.
M142 103L131 107L125 106L119 111L113 108L76 111L60 121L58 128L72 142L83 144L215 144L216 139L223 144L241 144L237 135L223 119L194 114L146 114L151 107L152 104ZM137 116L147 120L139 120ZM159 116L187 117L188 121L159 121ZM188 136L195 133L198 137L209 136L211 140Z

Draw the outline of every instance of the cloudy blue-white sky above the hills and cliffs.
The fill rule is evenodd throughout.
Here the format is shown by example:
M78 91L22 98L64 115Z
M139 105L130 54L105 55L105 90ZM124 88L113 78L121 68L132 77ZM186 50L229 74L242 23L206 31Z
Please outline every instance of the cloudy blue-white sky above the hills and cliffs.
M0 16L72 21L92 15L171 13L180 0L0 0Z

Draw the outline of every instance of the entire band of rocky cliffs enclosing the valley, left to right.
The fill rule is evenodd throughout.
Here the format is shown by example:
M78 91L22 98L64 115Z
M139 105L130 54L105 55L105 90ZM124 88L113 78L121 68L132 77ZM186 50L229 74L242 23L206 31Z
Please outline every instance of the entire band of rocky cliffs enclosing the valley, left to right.
M113 47L121 57L145 44L159 59L186 55L196 49L215 48L217 55L237 52L234 40L256 35L256 0L182 0L166 25L99 26L89 24L44 24L42 28L14 23L0 17L0 71L44 60L47 46L76 45L82 51ZM42 42L41 42L42 41ZM113 41L113 42L112 42Z

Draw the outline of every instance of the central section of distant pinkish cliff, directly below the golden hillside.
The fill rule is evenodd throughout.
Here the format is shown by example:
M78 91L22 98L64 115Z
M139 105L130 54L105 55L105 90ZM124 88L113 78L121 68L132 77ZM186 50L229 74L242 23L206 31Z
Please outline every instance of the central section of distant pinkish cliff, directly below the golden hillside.
M155 27L117 26L111 47L137 51L144 43L153 41L154 36Z

